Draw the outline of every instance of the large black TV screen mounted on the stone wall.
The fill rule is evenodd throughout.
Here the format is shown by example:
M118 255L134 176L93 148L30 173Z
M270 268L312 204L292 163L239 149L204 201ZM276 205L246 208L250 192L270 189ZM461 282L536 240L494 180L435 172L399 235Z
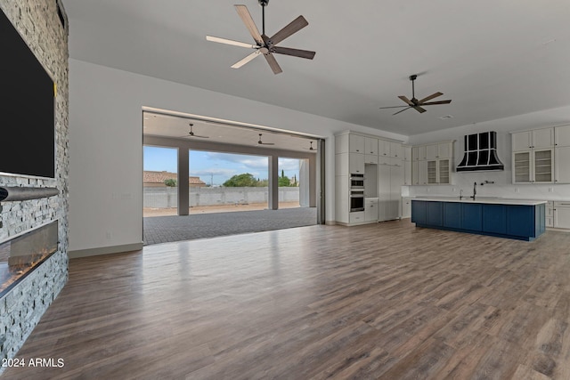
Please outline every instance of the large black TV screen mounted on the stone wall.
M55 177L53 79L0 10L0 173Z

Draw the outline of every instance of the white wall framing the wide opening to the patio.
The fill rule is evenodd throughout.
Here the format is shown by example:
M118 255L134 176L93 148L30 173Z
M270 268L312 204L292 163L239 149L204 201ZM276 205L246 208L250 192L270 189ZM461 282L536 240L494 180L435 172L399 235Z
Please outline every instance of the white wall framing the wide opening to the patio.
M321 136L327 147L328 222L335 220L334 133L353 130L406 140L400 134L70 59L70 251L142 243L143 106Z

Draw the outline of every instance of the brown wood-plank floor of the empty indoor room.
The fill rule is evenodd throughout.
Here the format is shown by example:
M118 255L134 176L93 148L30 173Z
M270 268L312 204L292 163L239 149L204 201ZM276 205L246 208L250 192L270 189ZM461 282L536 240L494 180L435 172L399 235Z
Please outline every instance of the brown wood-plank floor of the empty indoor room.
M570 234L409 220L73 259L4 378L570 379Z

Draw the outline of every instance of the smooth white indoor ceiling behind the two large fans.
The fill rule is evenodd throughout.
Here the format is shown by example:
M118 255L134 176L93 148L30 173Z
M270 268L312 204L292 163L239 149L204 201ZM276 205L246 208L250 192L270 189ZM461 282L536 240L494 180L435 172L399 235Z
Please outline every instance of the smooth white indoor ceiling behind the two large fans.
M314 50L314 61L276 54L230 66L253 43L235 0L63 0L69 54L117 69L193 85L356 125L413 135L570 105L570 1L271 0L268 35L299 14L308 27L280 45ZM257 0L240 0L261 28ZM449 105L392 116L398 95L440 91ZM440 117L451 115L452 118Z

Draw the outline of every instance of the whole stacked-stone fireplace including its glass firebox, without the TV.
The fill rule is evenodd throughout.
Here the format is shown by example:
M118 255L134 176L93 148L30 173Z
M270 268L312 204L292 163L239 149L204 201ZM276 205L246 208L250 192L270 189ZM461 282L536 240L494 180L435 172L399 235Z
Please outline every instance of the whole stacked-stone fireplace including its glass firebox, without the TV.
M0 360L4 360L17 356L68 279L69 29L61 0L0 0L0 12L57 85L55 175L0 173L0 187L48 190L41 198L0 200ZM25 127L4 123L0 131Z

